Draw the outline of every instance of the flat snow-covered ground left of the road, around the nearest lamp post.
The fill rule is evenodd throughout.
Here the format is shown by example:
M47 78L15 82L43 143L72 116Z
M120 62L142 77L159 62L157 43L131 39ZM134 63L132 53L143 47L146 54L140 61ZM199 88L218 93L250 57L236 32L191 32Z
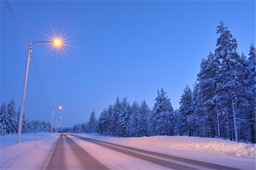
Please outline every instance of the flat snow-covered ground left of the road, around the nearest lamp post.
M36 133L1 136L0 169L42 169L59 134Z

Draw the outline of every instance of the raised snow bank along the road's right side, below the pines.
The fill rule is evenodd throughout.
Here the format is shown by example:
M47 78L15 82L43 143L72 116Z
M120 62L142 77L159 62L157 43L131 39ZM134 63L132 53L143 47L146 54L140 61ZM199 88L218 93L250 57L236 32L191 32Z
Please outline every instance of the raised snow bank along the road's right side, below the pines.
M97 134L82 133L89 138L102 141L119 143L121 145L134 146L152 146L160 148L172 148L175 150L191 150L203 152L217 152L221 154L229 154L234 156L246 156L255 158L256 145L249 143L241 143L228 141L217 138L200 138L187 136L154 136L139 138L116 138L106 137Z

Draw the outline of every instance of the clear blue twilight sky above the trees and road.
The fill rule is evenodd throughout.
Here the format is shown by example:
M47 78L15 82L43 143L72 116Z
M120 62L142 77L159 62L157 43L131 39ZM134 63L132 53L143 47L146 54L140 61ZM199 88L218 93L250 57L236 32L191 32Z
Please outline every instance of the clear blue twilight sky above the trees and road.
M44 91L63 126L85 122L95 110L146 100L152 108L164 88L174 109L201 59L214 52L223 20L247 56L255 45L255 1L10 1L28 42L64 35L65 52L33 46ZM1 1L1 103L20 105L27 50ZM25 112L51 119L51 108L30 65Z

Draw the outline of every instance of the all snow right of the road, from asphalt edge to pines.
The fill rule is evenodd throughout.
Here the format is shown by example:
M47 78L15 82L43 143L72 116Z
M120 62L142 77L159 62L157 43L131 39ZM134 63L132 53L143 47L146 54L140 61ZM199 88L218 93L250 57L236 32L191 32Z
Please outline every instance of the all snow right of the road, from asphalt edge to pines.
M80 133L79 135L100 141L117 143L119 145L141 148L183 158L201 160L241 169L255 169L255 144L216 138L186 136L117 138L89 133ZM76 142L81 144L78 140L76 140Z

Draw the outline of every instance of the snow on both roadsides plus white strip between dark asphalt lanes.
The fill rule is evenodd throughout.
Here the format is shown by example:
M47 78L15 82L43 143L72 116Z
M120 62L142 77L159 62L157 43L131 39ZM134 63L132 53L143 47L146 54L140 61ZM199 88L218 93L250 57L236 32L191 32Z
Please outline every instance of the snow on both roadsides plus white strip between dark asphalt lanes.
M223 139L179 136L118 138L88 133L79 135L228 167L255 169L256 146L254 144ZM59 134L36 133L35 143L34 134L26 134L22 135L22 143L19 144L15 144L16 135L1 136L0 169L43 169L58 136ZM131 169L134 167L139 169L159 169L159 165L154 163L146 162L79 138L69 137L111 169L129 169L129 167ZM106 156L106 153L108 156ZM68 157L68 159L71 158Z

